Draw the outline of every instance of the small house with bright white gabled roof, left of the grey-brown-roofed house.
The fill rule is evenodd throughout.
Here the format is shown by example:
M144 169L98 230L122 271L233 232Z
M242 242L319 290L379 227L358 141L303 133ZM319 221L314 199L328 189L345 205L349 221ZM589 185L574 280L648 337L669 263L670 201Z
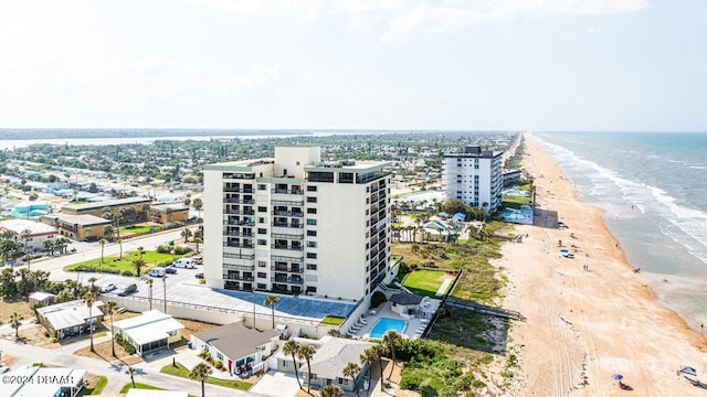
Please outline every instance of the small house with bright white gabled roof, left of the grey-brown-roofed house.
M113 323L114 333L131 344L140 355L169 348L170 343L181 341L183 328L179 321L159 310L149 310L143 315Z

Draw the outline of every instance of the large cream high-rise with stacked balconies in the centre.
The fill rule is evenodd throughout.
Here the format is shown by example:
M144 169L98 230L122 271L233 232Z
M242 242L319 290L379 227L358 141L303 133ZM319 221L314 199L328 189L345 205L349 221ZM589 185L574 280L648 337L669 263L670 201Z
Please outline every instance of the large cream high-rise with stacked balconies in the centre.
M204 169L204 278L213 288L360 299L394 275L384 162L314 147Z

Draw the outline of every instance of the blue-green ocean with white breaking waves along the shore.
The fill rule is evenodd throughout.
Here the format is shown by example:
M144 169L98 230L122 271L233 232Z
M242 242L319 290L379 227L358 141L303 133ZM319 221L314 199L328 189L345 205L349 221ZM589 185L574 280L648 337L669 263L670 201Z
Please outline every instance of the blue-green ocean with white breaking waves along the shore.
M696 330L707 324L707 133L531 136L582 201L605 211L606 226L659 301Z

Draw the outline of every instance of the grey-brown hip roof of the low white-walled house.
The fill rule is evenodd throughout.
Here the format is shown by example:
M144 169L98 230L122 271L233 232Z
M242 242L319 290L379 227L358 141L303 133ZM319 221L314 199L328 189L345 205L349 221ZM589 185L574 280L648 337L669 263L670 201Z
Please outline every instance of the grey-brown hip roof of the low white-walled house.
M224 355L238 360L255 353L257 346L264 345L278 335L277 330L260 332L235 322L200 332L194 334L194 337L209 343Z

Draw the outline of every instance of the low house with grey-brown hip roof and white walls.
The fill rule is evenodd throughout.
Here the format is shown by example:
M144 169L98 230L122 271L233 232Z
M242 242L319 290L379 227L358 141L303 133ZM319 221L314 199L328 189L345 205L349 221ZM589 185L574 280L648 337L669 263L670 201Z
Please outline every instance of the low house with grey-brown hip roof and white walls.
M257 331L240 322L191 335L191 346L220 360L230 374L255 373L278 346L277 330Z

